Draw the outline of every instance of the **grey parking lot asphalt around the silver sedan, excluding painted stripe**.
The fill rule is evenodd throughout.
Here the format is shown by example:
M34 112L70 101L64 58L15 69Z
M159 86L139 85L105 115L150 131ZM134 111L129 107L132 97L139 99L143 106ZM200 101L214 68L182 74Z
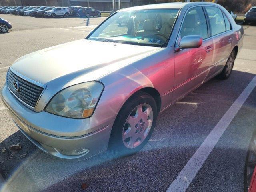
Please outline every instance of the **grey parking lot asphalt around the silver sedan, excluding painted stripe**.
M44 19L0 15L13 29L0 34L0 87L14 60L30 52L84 38L105 18ZM88 22L88 26L86 23ZM256 26L244 26L244 46L228 80L213 78L158 116L142 151L113 158L104 152L88 160L58 160L36 148L16 128L0 101L0 173L4 191L166 191L230 106L256 75ZM86 56L86 50L85 56ZM256 126L256 89L190 181L188 192L242 191L246 152ZM228 119L227 119L228 120ZM22 148L13 156L8 146ZM190 167L194 171L194 167ZM189 173L188 173L189 174ZM182 190L181 190L182 191Z

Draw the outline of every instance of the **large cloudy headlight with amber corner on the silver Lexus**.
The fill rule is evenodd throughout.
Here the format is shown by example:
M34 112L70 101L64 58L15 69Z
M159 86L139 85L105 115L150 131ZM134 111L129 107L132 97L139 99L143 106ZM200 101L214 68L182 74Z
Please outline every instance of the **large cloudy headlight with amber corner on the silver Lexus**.
M99 82L76 84L58 92L45 108L46 112L70 117L87 118L92 115L103 85Z

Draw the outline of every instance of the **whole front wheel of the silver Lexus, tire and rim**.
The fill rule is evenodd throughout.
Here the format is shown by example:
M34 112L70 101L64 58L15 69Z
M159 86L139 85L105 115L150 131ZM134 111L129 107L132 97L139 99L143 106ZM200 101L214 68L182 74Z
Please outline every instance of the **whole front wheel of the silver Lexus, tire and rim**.
M117 156L130 155L141 150L154 131L157 116L154 98L145 92L135 93L116 116L108 149Z

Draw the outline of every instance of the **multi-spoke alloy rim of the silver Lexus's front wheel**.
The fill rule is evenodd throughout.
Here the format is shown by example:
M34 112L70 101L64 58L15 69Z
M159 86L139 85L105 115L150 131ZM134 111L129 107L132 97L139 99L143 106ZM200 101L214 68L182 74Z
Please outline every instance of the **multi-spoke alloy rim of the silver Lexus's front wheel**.
M148 136L153 122L153 110L144 103L138 105L126 119L122 132L122 140L127 148L136 148Z

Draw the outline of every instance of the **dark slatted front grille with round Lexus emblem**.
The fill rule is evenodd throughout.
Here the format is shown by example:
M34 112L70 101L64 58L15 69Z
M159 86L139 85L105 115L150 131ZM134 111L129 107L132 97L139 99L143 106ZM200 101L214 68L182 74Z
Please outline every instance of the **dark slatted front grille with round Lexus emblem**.
M10 69L7 72L6 82L12 94L14 94L14 96L16 96L19 100L31 106L32 108L36 106L36 103L42 94L42 91L44 90L43 87L28 82L28 80L25 80L24 78L14 74L14 72L12 72ZM14 88L15 82L16 85L18 83L18 90L17 86L16 89Z

